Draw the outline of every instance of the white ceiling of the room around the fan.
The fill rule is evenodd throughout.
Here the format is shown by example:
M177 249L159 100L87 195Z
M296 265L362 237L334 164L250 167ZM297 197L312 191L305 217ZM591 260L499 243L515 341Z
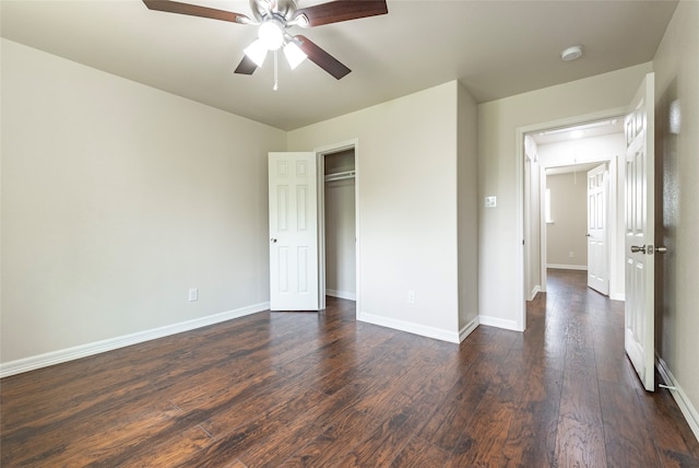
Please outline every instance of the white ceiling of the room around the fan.
M250 15L247 1L191 3ZM322 3L299 0L299 7ZM388 0L389 14L294 28L353 72L280 58L234 74L254 26L151 11L140 0L2 0L1 35L284 130L460 80L486 102L653 59L676 0ZM584 46L562 62L560 51Z

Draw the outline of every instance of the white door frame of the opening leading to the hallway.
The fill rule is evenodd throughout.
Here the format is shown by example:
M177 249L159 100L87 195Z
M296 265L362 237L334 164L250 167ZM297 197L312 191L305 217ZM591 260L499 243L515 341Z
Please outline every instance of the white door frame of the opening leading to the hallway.
M592 114L584 114L574 117L562 118L558 120L552 120L546 122L533 124L524 127L518 127L514 130L514 207L517 210L516 220L516 242L518 245L518 254L514 258L516 268L516 281L519 284L517 288L517 325L516 329L524 331L526 329L526 296L528 292L525 284L524 268L524 164L526 155L524 154L524 136L526 133L534 133L538 131L549 130L552 128L572 127L576 125L582 125L594 120L605 120L611 118L618 118L626 115L626 107L615 107L606 110L600 110ZM545 241L545 234L542 234L542 239ZM543 255L542 255L543 257ZM545 265L542 265L542 274L546 274ZM543 279L543 278L542 278ZM545 283L544 283L545 284ZM542 286L544 285L542 284Z

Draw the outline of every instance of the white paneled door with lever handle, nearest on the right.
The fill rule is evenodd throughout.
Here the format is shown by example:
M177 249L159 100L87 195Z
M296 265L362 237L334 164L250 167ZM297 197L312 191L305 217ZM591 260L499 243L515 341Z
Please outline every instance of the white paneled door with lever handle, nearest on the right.
M639 87L626 116L626 352L643 386L655 387L654 74Z

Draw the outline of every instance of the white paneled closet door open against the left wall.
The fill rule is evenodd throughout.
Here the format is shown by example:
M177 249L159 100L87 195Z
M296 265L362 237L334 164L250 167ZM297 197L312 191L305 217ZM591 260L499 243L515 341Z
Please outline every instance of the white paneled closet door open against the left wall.
M316 153L270 153L270 308L318 311Z

